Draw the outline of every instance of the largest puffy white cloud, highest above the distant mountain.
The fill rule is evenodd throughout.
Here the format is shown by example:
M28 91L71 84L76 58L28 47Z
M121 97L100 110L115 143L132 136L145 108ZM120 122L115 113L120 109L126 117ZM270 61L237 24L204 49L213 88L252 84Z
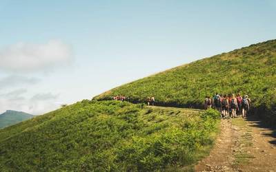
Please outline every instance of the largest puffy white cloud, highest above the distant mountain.
M11 72L32 72L68 64L72 50L61 41L44 44L17 43L0 49L0 69Z

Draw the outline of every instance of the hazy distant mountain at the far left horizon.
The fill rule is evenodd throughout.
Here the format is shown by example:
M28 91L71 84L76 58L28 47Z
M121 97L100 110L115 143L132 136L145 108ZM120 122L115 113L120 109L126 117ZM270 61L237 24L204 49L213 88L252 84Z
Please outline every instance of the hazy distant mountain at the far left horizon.
M33 116L31 114L27 114L23 111L7 110L5 113L0 114L0 129L10 125L15 125L18 122L28 120L32 117Z

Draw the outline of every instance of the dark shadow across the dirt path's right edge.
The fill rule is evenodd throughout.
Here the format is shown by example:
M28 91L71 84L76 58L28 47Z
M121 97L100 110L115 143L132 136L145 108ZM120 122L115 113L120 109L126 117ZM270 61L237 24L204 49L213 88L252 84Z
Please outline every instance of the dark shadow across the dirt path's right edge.
M249 125L250 127L259 127L261 129L266 129L268 131L271 131L269 133L262 133L262 135L272 138L272 140L268 142L276 146L276 126L268 125L266 122L262 121L257 116L248 116L246 120L250 122L250 125Z

